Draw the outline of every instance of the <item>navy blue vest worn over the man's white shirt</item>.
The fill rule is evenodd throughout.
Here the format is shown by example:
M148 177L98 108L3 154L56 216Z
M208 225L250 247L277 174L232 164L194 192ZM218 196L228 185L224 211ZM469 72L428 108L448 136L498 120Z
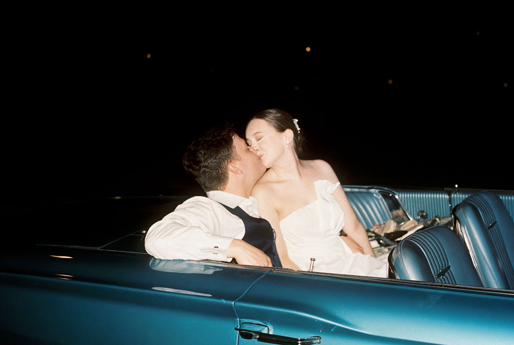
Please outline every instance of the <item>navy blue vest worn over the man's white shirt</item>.
M282 267L277 247L275 246L275 230L265 219L255 218L243 211L239 206L230 208L222 204L232 214L240 217L245 225L245 235L242 240L255 248L261 249L270 259L273 267Z

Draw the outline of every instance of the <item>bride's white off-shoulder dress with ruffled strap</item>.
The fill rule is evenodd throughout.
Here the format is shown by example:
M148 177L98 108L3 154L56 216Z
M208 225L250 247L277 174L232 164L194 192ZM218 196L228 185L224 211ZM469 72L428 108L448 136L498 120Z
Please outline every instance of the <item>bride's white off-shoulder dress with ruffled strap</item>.
M317 180L318 199L280 221L289 258L300 269L345 275L387 277L387 258L354 253L339 237L344 227L344 212L334 197L339 183Z

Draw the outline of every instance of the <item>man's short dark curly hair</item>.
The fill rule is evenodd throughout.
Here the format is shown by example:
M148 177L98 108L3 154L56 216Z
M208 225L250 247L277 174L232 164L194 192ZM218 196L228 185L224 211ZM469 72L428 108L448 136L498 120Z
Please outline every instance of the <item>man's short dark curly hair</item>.
M204 191L223 190L228 183L228 164L241 160L234 147L235 130L225 124L193 141L182 157L182 165Z

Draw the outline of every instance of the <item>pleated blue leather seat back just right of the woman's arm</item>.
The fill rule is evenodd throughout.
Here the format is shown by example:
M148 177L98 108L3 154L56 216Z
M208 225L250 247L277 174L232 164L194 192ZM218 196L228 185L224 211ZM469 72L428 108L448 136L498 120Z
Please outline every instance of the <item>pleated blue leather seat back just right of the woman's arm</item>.
M370 191L346 191L345 194L364 228L392 219L391 211L380 194Z

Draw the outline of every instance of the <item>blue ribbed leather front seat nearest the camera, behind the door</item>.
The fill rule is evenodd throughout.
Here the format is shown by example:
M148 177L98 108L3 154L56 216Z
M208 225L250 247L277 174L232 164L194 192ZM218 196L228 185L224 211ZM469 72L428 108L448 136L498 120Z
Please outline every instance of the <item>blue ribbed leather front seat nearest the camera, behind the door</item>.
M397 279L483 286L466 247L442 225L400 241L389 254L389 267Z

